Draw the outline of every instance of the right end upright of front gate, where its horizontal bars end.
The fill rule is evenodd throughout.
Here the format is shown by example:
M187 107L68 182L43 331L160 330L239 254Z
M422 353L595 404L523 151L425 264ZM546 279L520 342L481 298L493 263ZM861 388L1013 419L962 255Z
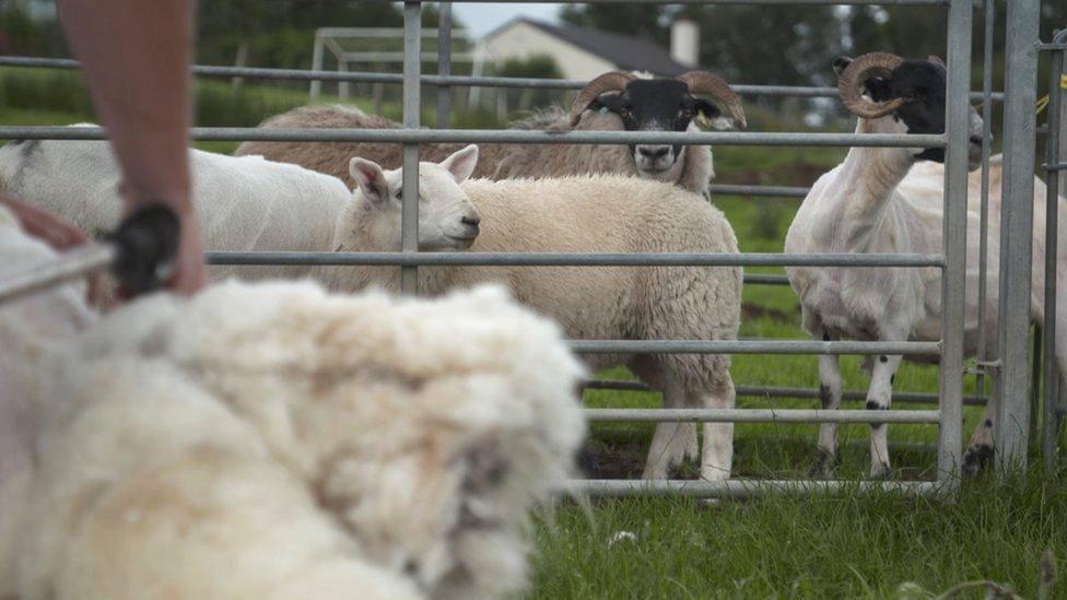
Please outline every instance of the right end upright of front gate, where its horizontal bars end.
M941 422L938 480L951 490L963 454L963 307L966 292L966 186L973 0L952 0L948 31L945 155L945 269L941 270Z

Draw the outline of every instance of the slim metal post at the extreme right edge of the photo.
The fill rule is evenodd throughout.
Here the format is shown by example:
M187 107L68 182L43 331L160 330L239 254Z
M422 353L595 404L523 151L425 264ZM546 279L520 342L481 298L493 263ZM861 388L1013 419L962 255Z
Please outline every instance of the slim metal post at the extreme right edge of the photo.
M1058 32L1054 42L1067 42L1067 31ZM1053 50L1048 83L1048 138L1045 140L1045 162L1055 165L1060 162L1060 146L1064 143L1064 90L1060 75L1064 72L1064 50ZM1059 365L1056 362L1056 258L1059 250L1059 190L1064 173L1050 173L1047 195L1045 196L1045 410L1043 414L1042 456L1045 474L1056 470L1056 442L1059 430Z

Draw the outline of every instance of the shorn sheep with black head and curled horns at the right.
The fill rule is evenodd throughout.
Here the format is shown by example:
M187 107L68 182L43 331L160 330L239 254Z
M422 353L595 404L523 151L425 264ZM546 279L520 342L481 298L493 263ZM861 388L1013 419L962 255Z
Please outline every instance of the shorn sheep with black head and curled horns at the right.
M904 60L888 54L839 58L842 99L859 116L860 133L942 133L946 73L940 60ZM981 156L982 120L971 116L971 167ZM943 149L853 148L844 162L816 181L786 236L787 252L941 252L945 167ZM977 311L980 176L968 184L965 344L974 353L977 332L997 327L1000 239L1000 162L990 164L988 290L986 314ZM1045 186L1034 181L1032 313L1044 322ZM1062 202L1059 228L1067 227ZM1060 236L1063 237L1063 236ZM1059 264L1067 264L1067 240L1060 239ZM938 340L941 337L941 277L938 269L787 268L800 297L804 328L823 340ZM1067 270L1058 274L1067 289ZM1056 355L1067 367L1067 298L1059 295ZM889 409L901 356L878 356L871 363L867 409ZM1064 370L1067 373L1067 369ZM842 380L836 356L819 357L823 408L841 404ZM964 455L964 472L975 473L993 456L995 401L986 407ZM830 475L837 461L837 426L820 428L816 471ZM871 426L870 475L890 471L886 425Z

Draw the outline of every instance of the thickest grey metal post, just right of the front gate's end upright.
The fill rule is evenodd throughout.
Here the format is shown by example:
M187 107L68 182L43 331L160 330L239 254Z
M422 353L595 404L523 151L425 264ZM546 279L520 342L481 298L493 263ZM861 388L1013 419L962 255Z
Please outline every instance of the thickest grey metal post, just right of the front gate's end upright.
M1000 318L997 420L1004 473L1027 464L1030 427L1029 332L1040 0L1008 2L1005 47L1004 181L1000 217Z

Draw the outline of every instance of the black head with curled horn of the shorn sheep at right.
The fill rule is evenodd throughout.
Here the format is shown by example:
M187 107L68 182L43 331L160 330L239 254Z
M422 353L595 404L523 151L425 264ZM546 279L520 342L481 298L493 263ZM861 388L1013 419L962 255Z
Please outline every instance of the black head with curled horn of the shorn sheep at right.
M945 132L947 97L946 67L938 57L904 59L888 52L870 52L859 58L839 57L837 93L856 116L876 120L892 116L882 132L938 134ZM971 108L969 123L971 168L982 153L982 118ZM945 149L915 149L917 160L945 162Z

